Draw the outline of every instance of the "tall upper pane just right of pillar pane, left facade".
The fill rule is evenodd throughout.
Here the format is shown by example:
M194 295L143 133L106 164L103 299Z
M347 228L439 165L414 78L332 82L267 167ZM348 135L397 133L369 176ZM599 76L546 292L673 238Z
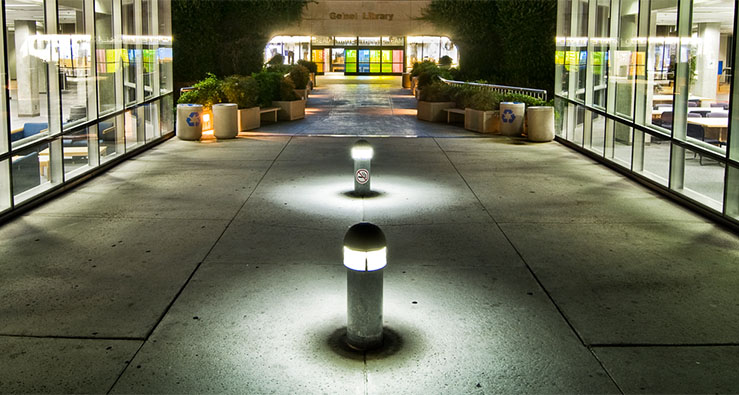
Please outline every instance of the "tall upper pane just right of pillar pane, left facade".
M59 82L62 91L64 129L94 118L95 75L92 70L90 30L85 25L85 3L69 0L59 4L58 44Z

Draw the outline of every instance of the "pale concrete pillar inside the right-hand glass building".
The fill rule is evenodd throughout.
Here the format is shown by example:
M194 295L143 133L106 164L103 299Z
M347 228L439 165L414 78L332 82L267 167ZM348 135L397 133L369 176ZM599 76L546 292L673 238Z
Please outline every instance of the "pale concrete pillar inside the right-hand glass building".
M718 77L718 50L721 42L720 23L698 24L698 53L695 59L696 81L690 93L696 96L716 98Z

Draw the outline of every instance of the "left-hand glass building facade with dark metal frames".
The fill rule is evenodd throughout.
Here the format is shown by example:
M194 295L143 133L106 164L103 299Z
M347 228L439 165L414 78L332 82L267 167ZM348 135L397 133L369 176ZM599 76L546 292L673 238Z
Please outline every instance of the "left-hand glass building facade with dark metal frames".
M170 0L5 0L0 215L174 130Z

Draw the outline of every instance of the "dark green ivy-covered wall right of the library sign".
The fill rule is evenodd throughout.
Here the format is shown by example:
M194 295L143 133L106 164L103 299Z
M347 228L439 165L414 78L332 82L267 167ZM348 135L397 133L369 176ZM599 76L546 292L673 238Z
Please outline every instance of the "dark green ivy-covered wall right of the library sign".
M457 80L554 89L557 0L432 0L423 20L451 33Z

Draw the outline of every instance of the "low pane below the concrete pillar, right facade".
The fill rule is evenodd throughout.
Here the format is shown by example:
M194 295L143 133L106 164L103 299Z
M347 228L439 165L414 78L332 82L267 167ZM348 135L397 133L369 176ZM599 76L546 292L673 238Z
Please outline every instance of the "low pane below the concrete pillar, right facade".
M685 174L678 189L714 210L721 211L724 196L724 171L721 163L690 149L685 150Z

